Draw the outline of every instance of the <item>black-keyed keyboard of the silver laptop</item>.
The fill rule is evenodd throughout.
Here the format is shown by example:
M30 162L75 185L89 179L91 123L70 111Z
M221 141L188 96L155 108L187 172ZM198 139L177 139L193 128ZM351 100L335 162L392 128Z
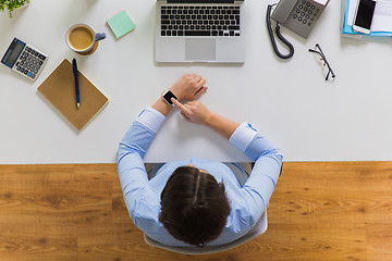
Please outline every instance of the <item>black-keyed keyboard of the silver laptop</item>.
M161 5L161 36L240 36L240 7Z

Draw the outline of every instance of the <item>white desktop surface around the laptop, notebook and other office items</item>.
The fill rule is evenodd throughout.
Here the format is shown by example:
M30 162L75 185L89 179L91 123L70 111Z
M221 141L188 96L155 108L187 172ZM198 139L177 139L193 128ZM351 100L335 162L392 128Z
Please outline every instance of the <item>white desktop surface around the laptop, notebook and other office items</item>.
M50 1L0 14L0 50L14 36L50 58L32 84L0 66L0 163L115 162L118 142L137 114L183 73L207 78L201 100L235 121L253 123L272 139L285 161L392 160L392 41L341 38L341 2L331 1L307 41L284 30L295 55L282 62L272 53L266 29L267 2L246 0L243 65L156 64L155 0ZM124 9L136 29L115 40L106 20ZM77 55L79 70L110 99L84 129L77 132L37 87L73 53L64 42L66 29L87 23L105 32L96 53ZM321 67L307 49L321 45L334 83L324 83ZM193 125L173 111L154 140L146 160L168 161L192 156L212 160L246 160L218 134Z

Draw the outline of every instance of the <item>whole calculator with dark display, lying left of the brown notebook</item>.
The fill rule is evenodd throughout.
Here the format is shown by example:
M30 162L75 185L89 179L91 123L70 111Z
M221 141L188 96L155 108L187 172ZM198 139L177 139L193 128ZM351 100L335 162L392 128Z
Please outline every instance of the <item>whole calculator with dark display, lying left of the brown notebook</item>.
M47 61L47 54L16 37L12 40L4 57L1 59L1 63L30 80L36 80Z

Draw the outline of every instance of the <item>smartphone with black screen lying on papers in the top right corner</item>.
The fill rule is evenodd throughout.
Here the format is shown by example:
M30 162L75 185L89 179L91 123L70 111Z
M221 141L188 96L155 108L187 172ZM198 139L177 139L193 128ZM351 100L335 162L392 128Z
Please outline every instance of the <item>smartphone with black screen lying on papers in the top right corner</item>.
M370 34L371 21L375 14L376 1L375 0L359 0L353 29L363 34Z

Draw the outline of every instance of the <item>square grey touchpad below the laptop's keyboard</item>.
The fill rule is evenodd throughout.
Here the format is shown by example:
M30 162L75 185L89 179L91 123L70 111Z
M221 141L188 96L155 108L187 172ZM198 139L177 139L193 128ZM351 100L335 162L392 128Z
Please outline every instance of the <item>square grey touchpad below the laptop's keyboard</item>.
M215 39L185 39L185 60L188 61L215 61Z

